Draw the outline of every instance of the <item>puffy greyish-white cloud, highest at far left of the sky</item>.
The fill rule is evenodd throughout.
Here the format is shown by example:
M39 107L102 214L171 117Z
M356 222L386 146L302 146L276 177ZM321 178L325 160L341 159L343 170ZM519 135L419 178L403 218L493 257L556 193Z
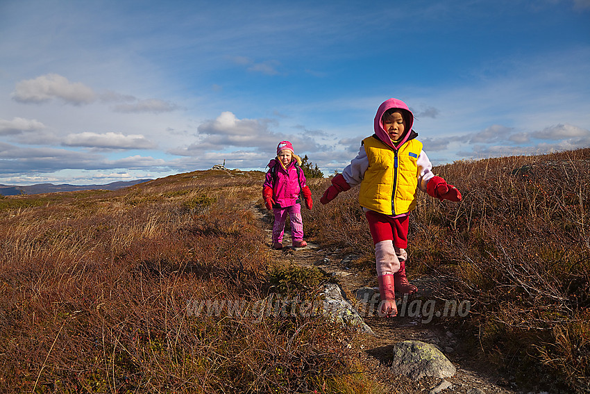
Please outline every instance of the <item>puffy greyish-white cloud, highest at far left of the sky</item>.
M61 99L67 104L90 104L96 95L83 83L71 83L58 74L45 74L16 84L12 99L21 103L42 103Z

